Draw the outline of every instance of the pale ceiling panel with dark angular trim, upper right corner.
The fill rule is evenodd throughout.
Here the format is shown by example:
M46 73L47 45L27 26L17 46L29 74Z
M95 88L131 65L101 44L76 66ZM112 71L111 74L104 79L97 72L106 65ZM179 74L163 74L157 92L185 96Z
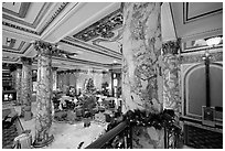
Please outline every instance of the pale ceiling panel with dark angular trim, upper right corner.
M223 2L170 2L178 37L197 40L223 34Z

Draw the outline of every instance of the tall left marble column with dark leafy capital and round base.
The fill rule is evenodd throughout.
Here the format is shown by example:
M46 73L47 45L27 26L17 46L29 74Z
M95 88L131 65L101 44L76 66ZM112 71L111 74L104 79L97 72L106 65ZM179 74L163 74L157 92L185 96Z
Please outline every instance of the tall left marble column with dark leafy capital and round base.
M36 117L34 148L51 143L52 126L52 51L51 44L36 41L34 48L38 51L38 88L36 88Z

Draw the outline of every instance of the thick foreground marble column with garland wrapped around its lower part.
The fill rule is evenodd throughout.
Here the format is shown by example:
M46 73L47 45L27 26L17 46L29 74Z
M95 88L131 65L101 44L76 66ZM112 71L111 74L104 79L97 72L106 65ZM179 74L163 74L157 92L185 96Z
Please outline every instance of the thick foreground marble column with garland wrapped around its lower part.
M161 3L124 3L122 34L122 112L162 111L159 72L161 40ZM133 128L133 148L164 148L163 130Z

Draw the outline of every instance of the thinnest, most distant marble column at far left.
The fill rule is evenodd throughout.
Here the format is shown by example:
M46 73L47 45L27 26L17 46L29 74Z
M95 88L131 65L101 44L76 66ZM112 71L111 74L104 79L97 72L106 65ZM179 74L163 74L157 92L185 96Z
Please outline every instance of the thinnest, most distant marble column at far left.
M22 65L18 64L15 72L15 90L17 90L17 101L15 105L22 105Z

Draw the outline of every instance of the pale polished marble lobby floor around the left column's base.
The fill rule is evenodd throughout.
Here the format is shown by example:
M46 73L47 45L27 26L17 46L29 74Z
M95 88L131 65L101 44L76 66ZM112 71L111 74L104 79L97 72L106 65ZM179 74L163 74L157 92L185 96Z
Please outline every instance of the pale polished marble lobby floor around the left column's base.
M32 103L32 112L35 116L35 103ZM20 112L20 107L14 107ZM32 118L29 121L24 121L20 118L24 130L31 130L32 139L35 136L35 119ZM82 148L89 145L98 136L105 130L107 125L92 121L90 127L84 128L83 122L71 123L58 123L53 122L51 133L54 136L54 141L43 149L77 149L81 142L84 142Z

